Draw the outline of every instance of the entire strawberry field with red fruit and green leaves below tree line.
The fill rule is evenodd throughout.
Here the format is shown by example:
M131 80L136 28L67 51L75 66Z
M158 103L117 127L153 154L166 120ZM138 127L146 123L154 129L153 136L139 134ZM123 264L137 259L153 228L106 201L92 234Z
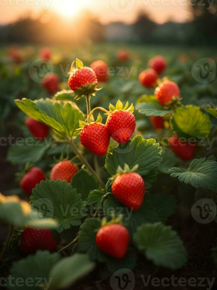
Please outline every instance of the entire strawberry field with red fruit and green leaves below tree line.
M216 61L0 49L1 287L215 289Z

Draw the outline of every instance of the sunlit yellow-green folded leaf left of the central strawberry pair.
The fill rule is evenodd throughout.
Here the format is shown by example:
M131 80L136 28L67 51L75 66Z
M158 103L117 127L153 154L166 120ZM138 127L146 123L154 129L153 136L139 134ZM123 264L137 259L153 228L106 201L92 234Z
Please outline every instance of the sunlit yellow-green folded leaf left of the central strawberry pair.
M62 104L51 99L40 99L32 102L28 99L15 100L23 112L33 119L43 122L53 131L71 138L79 128L79 120L84 120L82 112L74 103Z

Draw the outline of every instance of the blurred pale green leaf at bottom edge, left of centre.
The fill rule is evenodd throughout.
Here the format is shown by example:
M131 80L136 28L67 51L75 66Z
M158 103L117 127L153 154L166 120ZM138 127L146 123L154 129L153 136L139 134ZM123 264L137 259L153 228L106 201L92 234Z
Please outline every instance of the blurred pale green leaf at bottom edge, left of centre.
M50 271L49 277L52 278L52 281L49 289L66 289L93 268L94 263L90 262L86 254L74 254L71 257L63 258Z

